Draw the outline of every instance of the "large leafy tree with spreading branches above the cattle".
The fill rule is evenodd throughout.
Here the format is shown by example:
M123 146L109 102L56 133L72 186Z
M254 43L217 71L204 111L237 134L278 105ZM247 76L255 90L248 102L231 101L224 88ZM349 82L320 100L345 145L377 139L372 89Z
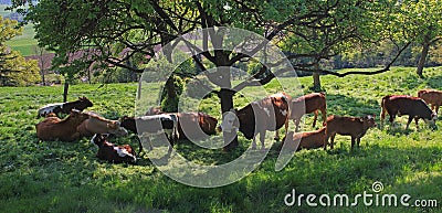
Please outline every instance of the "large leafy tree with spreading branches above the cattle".
M136 63L146 60L146 55L154 56L155 46L165 45L197 28L215 26L234 26L263 34L283 50L292 50L287 57L296 70L346 76L389 70L391 64L377 72L343 74L319 70L316 64L354 43L362 45L378 40L382 24L387 23L385 14L393 3L388 0L42 0L21 12L25 13L25 20L35 24L40 45L56 53L54 65L63 65L60 70L69 76L84 72L96 61L143 72L143 67L128 67L125 62ZM23 1L14 1L14 7L21 4ZM223 30L214 29L203 34L203 39L211 38L211 43L203 45L220 46L223 33ZM70 54L85 50L90 51L87 56L70 61ZM245 54L222 50L206 51L201 55L204 61L193 57L201 72L208 70L208 64L229 67L249 58ZM209 79L221 87L217 94L221 99L221 110L225 113L233 108L233 95L238 90L266 84L274 77L275 74L261 64L251 78L235 87L232 87L229 70L219 68ZM221 78L223 81L218 81ZM236 139L230 145L238 145Z

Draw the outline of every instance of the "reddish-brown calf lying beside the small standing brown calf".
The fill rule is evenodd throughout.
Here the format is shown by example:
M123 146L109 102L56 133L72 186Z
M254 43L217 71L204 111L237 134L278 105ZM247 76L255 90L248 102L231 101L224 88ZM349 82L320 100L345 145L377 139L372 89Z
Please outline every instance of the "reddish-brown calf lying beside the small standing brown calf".
M299 145L297 141L301 140ZM297 132L288 131L285 135L285 139L283 139L283 143L281 145L284 149L288 150L301 150L301 149L317 149L324 147L325 142L325 128L320 128L315 131L304 131Z

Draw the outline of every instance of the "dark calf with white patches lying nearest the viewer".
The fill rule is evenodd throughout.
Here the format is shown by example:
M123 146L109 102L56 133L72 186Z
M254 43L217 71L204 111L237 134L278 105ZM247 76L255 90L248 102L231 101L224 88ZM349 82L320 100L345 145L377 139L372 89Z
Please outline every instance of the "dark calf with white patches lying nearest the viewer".
M91 139L92 143L98 147L96 157L101 160L107 160L113 163L130 163L137 162L137 155L129 145L115 146L107 141L107 136L102 134L95 134Z

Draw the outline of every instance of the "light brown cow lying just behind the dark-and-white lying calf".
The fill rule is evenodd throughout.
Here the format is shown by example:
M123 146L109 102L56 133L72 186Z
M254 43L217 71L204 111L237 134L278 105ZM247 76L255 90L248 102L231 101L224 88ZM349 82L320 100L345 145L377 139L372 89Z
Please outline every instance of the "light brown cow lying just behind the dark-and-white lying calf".
M118 120L106 119L93 111L87 111L88 118L78 125L77 130L84 137L91 137L95 134L113 134L116 136L126 136L127 130L120 126Z

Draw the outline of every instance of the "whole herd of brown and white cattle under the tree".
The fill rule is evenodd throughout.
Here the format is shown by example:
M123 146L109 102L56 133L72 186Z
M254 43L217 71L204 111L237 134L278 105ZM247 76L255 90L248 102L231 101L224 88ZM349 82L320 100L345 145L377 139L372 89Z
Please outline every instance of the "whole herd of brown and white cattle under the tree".
M431 105L431 109L428 106ZM408 115L407 128L414 119L418 127L420 118L434 123L438 119L439 106L442 105L442 92L423 89L418 97L408 95L387 95L381 99L380 121L389 114L393 124L396 116ZM253 102L236 110L231 109L222 116L218 126L217 118L203 113L162 113L154 107L140 117L124 116L119 120L106 119L93 111L83 111L93 104L86 97L75 102L50 104L39 109L38 117L44 120L35 125L36 136L41 140L73 141L82 137L92 137L91 142L98 147L97 157L109 162L136 162L136 152L129 145L116 146L108 142L109 134L125 136L127 130L138 135L165 135L171 146L178 139L201 139L221 130L224 134L241 131L246 139L253 139L252 148L256 148L255 137L260 135L261 148L264 149L265 132L276 131L285 126L285 139L282 147L292 150L334 148L335 136L350 136L351 148L359 146L360 138L369 128L376 127L375 115L362 117L345 117L330 115L327 117L327 104L324 93L312 93L298 98L292 98L285 93L278 93ZM433 111L434 110L434 111ZM322 113L323 127L314 131L297 132L301 118L305 114L314 114L313 127L316 126L318 111ZM64 119L60 114L69 114ZM295 131L288 131L288 121L295 123ZM328 142L330 139L330 142ZM149 149L151 145L149 141ZM139 140L139 152L143 150Z

